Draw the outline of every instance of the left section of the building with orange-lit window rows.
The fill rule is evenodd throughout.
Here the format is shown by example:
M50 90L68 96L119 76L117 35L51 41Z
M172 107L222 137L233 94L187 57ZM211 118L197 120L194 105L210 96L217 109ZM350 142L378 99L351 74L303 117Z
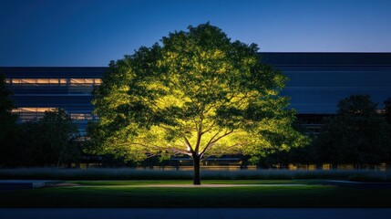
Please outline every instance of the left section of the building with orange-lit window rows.
M38 120L47 110L67 111L84 134L92 114L91 91L100 85L106 68L0 68L13 90L20 121Z

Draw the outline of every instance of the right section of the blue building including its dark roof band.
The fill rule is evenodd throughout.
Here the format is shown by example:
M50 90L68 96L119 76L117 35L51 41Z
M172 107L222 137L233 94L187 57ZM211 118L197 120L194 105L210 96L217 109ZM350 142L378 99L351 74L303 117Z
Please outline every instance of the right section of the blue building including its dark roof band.
M391 97L391 53L263 53L289 78L282 94L299 114L334 114L350 95L371 96L378 108Z

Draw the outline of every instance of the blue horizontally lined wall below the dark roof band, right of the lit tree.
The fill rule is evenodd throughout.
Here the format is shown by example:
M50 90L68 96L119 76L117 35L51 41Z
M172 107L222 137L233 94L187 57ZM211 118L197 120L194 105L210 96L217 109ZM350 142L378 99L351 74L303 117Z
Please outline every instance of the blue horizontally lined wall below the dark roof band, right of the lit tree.
M370 95L383 108L383 102L391 96L391 68L350 67L295 69L283 67L290 78L283 95L290 96L292 106L300 113L330 113L337 110L337 103L352 94Z

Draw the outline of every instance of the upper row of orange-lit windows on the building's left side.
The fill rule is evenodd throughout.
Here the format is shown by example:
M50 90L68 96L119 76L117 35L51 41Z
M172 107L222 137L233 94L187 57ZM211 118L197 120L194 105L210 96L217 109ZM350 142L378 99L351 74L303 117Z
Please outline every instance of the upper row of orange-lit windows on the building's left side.
M13 86L92 86L102 83L101 78L6 78L5 81Z

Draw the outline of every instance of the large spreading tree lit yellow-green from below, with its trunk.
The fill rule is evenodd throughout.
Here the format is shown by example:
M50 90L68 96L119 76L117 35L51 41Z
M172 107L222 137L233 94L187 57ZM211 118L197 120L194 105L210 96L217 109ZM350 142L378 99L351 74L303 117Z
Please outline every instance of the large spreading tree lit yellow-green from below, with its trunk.
M209 23L188 29L110 62L90 129L102 151L132 160L188 155L201 184L208 156L256 156L304 140L288 98L278 96L287 78L262 64L256 45L232 42Z

